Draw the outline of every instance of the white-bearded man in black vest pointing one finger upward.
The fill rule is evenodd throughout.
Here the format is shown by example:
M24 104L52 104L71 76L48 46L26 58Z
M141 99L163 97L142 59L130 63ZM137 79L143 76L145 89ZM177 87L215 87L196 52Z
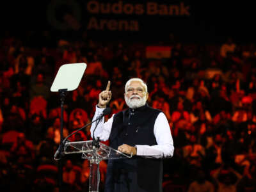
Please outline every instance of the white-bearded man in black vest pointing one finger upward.
M111 100L110 81L99 94L99 104L93 120ZM163 157L173 156L173 140L168 120L163 112L148 106L147 84L132 78L125 84L124 98L128 109L102 119L95 137L109 140L109 145L132 155L131 159L109 159L105 192L161 192Z

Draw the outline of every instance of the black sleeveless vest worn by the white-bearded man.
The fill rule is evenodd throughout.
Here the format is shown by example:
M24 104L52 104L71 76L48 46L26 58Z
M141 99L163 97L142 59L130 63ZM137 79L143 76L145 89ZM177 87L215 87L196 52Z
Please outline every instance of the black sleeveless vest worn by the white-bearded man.
M109 145L157 145L154 124L161 111L145 106L116 113ZM108 161L105 192L161 192L163 161L134 156Z

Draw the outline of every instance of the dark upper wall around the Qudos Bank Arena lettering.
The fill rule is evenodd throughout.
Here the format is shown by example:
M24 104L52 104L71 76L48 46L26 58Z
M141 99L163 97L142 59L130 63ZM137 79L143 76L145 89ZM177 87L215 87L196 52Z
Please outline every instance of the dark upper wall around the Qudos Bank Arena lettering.
M93 3L92 3L93 2ZM102 39L132 40L163 40L170 33L175 34L180 41L186 42L223 42L227 36L232 36L236 42L255 42L255 12L253 1L121 1L125 4L141 4L144 13L138 15L115 13L90 13L88 3L108 3L107 1L2 1L1 2L1 26L12 31L24 30L51 30L58 36L72 36L87 31L89 35ZM109 1L110 4L120 1ZM189 15L148 15L147 4L157 3L188 8ZM79 29L74 30L63 19L65 15L71 15L78 23ZM136 20L139 24L138 31L88 29L90 19L97 20ZM51 20L55 20L52 24ZM56 26L64 25L66 29ZM73 22L74 24L74 22ZM3 33L3 32L2 32ZM77 35L74 35L77 36ZM79 37L79 36L77 36Z

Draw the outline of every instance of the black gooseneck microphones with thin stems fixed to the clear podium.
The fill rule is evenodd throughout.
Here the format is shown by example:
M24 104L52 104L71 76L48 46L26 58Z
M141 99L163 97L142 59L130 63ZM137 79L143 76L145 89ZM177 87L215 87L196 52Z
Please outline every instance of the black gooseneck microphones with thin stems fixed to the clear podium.
M100 114L99 117L97 117L95 120L93 120L92 122L90 122L89 124L84 125L83 127L77 129L77 131L72 132L71 134L69 134L64 140L63 140L63 147L66 143L66 141L68 140L68 138L70 138L70 136L76 134L77 132L81 131L82 129L84 129L85 127L87 127L88 125L92 125L94 122L96 122L97 120L100 120L100 118L102 118L104 115L109 115L111 113L111 108L106 108L102 111L102 114ZM94 132L95 129L97 127L97 125L99 124L99 122L96 124L94 130L93 130L93 140L94 140ZM55 154L54 154L54 159L56 161L60 160L60 156L61 156L61 148L60 146L58 147L58 149L56 150Z

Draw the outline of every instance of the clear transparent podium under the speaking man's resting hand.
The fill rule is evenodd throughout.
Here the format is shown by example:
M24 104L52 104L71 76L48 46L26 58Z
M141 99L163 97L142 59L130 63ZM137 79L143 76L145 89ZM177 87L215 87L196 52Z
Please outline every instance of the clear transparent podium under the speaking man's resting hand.
M97 143L97 147L93 141L67 141L63 148L64 154L82 154L83 159L90 161L90 177L89 177L89 192L98 192L100 183L99 163L103 159L122 159L131 158L114 148Z

